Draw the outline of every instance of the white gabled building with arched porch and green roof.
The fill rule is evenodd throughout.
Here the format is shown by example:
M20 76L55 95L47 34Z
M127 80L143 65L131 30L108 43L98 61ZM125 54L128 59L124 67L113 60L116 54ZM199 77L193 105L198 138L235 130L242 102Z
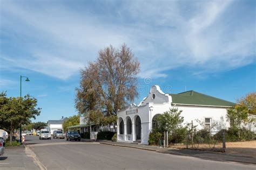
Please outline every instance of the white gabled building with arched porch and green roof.
M159 86L152 86L150 94L139 105L131 104L117 113L117 141L148 144L149 134L156 124L154 119L170 108L183 110L181 116L184 123L198 125L200 119L205 126L211 126L212 121L227 122L227 108L235 103L221 100L196 91L185 91L179 94L165 94ZM227 122L226 128L230 126Z

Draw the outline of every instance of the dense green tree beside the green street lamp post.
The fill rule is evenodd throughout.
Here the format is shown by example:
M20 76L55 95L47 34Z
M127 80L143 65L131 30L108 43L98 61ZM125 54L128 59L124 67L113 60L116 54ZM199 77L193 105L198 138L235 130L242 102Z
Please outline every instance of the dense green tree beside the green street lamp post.
M10 134L22 124L29 124L31 118L36 119L40 114L36 98L26 95L24 97L6 97L6 93L0 94L0 129Z

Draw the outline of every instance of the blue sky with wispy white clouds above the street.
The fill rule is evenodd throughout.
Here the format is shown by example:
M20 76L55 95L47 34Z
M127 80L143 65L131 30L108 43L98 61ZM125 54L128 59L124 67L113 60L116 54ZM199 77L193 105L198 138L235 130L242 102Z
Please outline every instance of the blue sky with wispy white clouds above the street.
M255 1L0 1L0 90L38 99L36 121L76 114L79 70L124 42L139 103L158 84L235 102L255 91ZM150 79L145 83L145 79Z

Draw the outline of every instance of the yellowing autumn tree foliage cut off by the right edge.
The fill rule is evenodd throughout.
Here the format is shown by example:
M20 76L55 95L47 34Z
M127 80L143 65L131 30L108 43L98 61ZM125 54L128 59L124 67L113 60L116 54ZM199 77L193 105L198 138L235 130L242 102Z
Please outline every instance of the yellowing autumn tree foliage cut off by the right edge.
M256 93L250 93L245 97L238 100L238 104L241 107L246 107L248 109L248 114L256 115Z

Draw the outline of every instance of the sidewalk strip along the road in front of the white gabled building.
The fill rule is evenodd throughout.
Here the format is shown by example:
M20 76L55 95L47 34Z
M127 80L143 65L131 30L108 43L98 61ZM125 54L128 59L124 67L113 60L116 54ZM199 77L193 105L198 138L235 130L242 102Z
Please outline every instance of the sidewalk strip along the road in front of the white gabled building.
M113 141L98 141L98 142L100 144L105 144L105 145L138 148L140 150L148 150L148 151L155 151L159 153L197 157L200 159L208 159L208 160L215 160L215 161L234 161L234 162L242 162L246 164L256 164L256 159L251 155L239 155L239 154L232 154L232 153L196 151L196 150L179 150L177 148L160 148L159 146L149 146L149 145L143 145L143 144L122 143L122 142L113 142Z

